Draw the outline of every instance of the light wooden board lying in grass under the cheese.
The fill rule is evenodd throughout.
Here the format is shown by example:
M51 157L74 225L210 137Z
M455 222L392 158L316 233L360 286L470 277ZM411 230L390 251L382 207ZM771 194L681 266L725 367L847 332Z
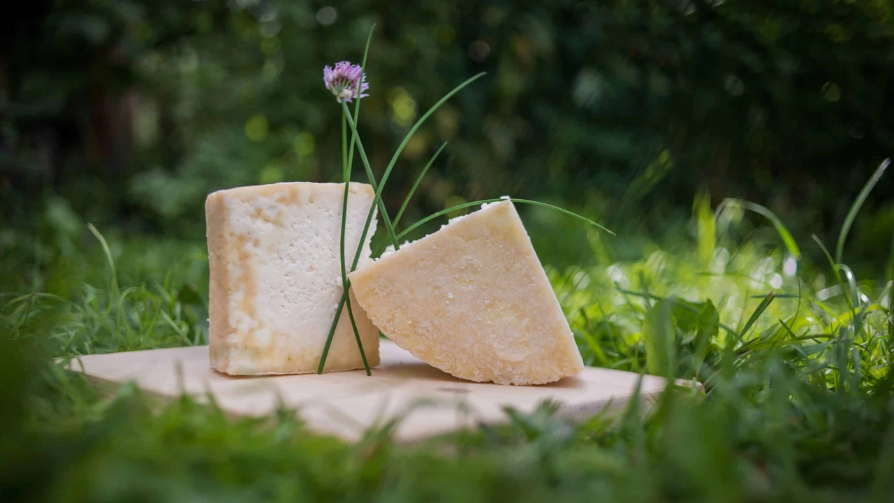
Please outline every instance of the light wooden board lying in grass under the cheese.
M164 397L211 393L227 413L264 415L278 405L298 410L308 427L343 439L401 417L396 437L422 439L477 423L506 420L504 407L529 413L544 400L561 413L586 416L620 407L633 395L639 375L587 367L573 378L542 386L501 386L456 379L383 340L382 364L372 377L364 371L269 377L230 377L208 365L208 347L180 347L131 353L93 354L72 361L97 387L114 391L136 382ZM645 376L641 399L654 401L665 379Z

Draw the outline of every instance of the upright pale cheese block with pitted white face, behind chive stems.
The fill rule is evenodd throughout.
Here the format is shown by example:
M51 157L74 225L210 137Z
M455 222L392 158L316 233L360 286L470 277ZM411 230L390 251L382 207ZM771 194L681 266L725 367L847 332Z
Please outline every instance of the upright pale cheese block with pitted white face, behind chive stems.
M236 375L314 372L342 298L340 240L344 183L273 183L214 192L205 202L211 366ZM351 183L345 233L350 261L375 193ZM370 262L370 226L359 260ZM350 269L349 269L350 270ZM378 330L352 300L370 366ZM342 316L325 371L362 369Z

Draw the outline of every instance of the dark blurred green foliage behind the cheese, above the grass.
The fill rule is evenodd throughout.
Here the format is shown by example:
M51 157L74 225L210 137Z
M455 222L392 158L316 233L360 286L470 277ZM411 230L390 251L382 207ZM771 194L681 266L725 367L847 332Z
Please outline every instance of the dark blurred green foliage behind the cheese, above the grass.
M0 253L13 276L92 240L87 222L199 243L208 192L338 180L340 111L322 68L357 62L374 23L359 124L378 175L419 115L487 72L410 141L389 208L449 141L405 222L511 194L620 235L594 252L578 222L526 209L542 259L560 268L685 241L698 194L753 200L800 242L831 243L894 151L890 0L38 0L16 10L0 21ZM882 179L848 240L864 276L890 262L892 191L894 176Z

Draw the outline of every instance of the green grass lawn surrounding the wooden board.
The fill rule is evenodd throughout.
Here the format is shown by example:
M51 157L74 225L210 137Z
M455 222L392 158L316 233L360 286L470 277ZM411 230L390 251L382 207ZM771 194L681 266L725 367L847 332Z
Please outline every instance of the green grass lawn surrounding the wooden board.
M696 208L694 222L704 214ZM0 297L0 494L890 500L890 278L797 261L778 236L775 246L765 234L734 240L724 229L743 218L725 209L716 227L700 223L699 234L639 260L547 268L587 364L698 379L704 395L671 389L651 413L634 404L582 422L547 403L507 411L504 427L410 446L392 442L392 425L347 444L306 431L288 410L232 419L186 396L157 405L131 386L97 396L51 358L207 343L207 263L201 243L85 230L42 253L39 267L4 277L15 293ZM29 263L33 241L46 240L21 239L4 261Z

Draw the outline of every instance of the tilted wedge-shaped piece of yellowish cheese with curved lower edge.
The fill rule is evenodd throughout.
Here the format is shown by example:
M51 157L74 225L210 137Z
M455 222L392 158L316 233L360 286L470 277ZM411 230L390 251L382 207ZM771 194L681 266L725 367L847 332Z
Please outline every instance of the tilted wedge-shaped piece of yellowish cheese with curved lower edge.
M458 378L543 384L584 369L510 200L384 255L350 283L387 337Z

